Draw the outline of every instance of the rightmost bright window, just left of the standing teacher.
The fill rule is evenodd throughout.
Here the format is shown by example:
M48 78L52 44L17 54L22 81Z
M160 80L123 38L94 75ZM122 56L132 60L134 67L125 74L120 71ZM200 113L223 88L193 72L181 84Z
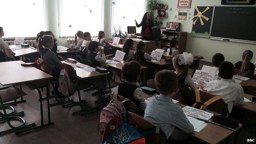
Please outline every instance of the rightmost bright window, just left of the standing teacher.
M127 26L136 26L135 19L138 23L142 21L142 17L146 12L147 0L112 0L112 23L111 31L114 28L127 32ZM141 27L136 28L136 33L141 32Z

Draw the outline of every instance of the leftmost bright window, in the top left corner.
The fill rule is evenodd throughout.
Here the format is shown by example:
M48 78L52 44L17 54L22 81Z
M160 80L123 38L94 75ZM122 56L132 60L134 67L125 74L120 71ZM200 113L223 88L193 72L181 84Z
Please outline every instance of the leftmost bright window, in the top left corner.
M45 30L44 0L1 0L5 37L36 37Z

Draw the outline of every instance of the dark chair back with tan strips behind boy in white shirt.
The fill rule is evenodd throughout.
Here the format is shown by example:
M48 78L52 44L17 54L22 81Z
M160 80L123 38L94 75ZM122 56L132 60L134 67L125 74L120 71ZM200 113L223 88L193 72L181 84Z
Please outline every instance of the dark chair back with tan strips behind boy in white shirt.
M210 110L225 116L228 111L228 105L219 96L213 96L203 91L195 90L197 102L192 107L200 110Z

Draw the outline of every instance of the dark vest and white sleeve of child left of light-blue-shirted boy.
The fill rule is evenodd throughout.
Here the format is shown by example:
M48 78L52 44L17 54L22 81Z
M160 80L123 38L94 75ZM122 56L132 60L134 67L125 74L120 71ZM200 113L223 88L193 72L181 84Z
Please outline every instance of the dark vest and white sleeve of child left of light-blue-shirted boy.
M118 94L135 103L142 111L146 108L145 96L138 82L122 82L118 87Z

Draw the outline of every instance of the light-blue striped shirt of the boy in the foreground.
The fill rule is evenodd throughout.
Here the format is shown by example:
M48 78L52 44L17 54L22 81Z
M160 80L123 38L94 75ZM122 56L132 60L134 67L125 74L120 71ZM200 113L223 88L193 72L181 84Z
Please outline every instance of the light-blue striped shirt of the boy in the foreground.
M181 107L163 94L149 100L144 119L160 127L165 132L167 139L175 127L185 133L191 133L194 130L194 126L187 119Z

